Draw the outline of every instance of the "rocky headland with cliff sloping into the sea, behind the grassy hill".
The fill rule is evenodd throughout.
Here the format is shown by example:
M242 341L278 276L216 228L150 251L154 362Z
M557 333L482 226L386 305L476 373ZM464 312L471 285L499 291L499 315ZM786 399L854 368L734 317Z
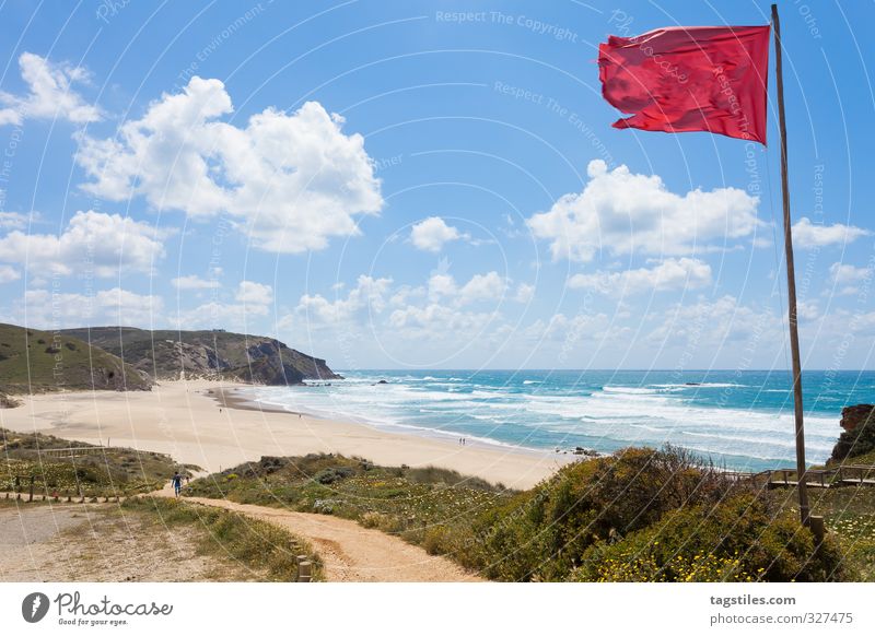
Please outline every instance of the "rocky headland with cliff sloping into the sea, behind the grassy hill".
M279 340L221 330L148 331L131 327L68 329L154 379L224 377L265 385L298 385L340 376Z

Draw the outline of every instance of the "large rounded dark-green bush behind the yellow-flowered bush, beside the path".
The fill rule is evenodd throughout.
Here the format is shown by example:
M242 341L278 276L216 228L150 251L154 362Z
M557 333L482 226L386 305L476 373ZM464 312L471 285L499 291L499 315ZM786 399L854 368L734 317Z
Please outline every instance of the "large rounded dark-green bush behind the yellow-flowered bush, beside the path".
M564 580L584 552L734 490L689 452L629 448L561 469L474 526L466 565L500 580Z

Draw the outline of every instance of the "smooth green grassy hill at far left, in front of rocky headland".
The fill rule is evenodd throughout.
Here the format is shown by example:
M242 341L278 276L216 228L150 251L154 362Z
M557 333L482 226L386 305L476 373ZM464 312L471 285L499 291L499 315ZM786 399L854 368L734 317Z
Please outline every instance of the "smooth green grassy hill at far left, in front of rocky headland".
M148 390L131 365L70 333L0 325L0 393L52 390Z

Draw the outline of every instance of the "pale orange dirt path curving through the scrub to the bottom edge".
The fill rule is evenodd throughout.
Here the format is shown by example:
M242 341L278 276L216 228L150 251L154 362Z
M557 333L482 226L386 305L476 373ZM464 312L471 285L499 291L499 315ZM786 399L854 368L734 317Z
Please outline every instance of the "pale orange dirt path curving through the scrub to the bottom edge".
M173 496L170 488L162 496ZM432 556L380 530L330 515L294 513L226 499L185 497L186 502L242 513L276 523L310 541L325 564L329 581L481 581L443 556Z

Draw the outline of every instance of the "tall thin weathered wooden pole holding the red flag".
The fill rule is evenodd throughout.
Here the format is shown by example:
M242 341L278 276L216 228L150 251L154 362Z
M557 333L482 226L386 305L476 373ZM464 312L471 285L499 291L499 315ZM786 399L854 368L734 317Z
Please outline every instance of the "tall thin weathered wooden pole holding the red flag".
M793 236L790 231L790 185L786 176L786 120L784 118L784 78L781 72L781 23L778 5L772 4L774 28L774 72L778 75L778 122L781 129L781 192L784 199L784 251L786 252L788 318L790 322L790 351L793 358L793 402L796 420L796 490L800 496L800 517L803 526L809 525L808 492L805 487L805 426L802 408L802 362L800 361L800 332L796 314L796 272L793 266Z

